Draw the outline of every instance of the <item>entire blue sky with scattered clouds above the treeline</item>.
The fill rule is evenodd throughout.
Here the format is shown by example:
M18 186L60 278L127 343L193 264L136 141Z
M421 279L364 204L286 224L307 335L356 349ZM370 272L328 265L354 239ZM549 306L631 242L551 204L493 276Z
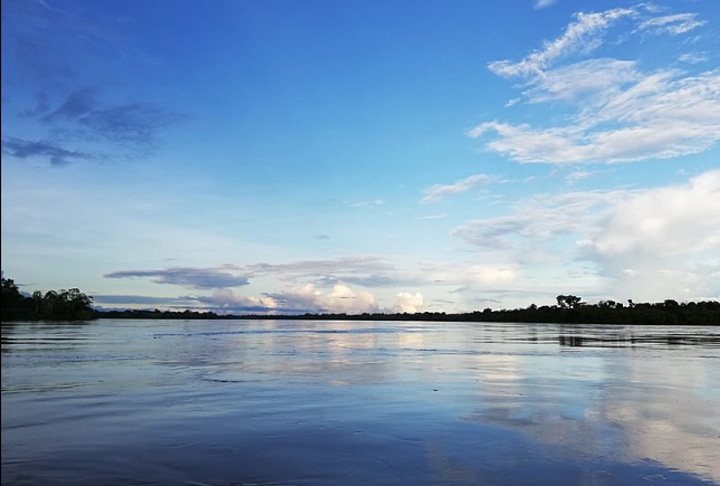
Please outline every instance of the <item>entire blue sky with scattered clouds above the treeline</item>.
M2 271L100 309L720 299L720 2L3 0Z

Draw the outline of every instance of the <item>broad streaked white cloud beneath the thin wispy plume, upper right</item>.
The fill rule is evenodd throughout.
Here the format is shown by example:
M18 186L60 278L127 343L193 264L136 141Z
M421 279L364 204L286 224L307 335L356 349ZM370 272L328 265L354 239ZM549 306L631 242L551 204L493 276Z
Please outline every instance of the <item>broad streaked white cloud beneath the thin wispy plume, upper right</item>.
M569 79L558 82L572 84ZM544 101L557 92L560 89L553 87L540 94L538 87L534 96ZM488 149L517 162L556 164L678 157L707 150L720 140L720 70L685 77L678 71L660 71L596 96L567 125L533 128L492 121L468 135L478 138L492 132L496 137L487 143Z

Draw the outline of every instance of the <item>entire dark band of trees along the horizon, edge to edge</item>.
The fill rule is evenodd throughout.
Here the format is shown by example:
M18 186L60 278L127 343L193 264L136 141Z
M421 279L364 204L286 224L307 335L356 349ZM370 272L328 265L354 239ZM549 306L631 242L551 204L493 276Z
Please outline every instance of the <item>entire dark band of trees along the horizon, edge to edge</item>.
M306 320L375 320L375 321L468 321L527 322L559 324L654 324L654 325L720 325L720 302L686 302L665 300L658 303L627 304L603 300L586 304L575 295L558 295L554 305L535 304L524 309L492 310L446 314L418 312L395 314L306 313L287 315L218 315L202 311L110 310L92 308L93 298L79 289L36 291L28 297L20 293L15 282L2 279L2 321L56 320L77 321L97 318L123 319L306 319Z

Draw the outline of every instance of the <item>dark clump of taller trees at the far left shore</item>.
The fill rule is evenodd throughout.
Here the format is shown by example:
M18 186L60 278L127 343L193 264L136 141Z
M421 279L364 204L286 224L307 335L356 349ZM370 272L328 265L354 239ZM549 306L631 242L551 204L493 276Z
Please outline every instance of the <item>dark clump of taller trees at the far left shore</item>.
M95 319L92 297L79 289L36 291L31 297L20 293L12 279L2 278L2 322L6 321L81 321Z

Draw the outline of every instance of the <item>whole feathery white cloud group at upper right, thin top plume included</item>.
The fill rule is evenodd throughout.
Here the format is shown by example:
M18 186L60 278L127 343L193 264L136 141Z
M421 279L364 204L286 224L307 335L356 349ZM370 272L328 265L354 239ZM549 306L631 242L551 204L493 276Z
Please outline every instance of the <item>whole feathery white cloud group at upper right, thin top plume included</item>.
M552 126L487 121L468 136L489 137L487 149L521 163L631 162L707 150L720 140L720 70L643 71L637 61L613 58L560 62L595 49L623 17L637 20L636 31L658 34L703 25L694 14L652 15L640 8L578 14L543 49L519 62L491 63L496 74L524 82L527 103L562 102L569 112Z

